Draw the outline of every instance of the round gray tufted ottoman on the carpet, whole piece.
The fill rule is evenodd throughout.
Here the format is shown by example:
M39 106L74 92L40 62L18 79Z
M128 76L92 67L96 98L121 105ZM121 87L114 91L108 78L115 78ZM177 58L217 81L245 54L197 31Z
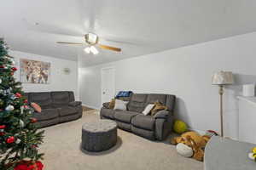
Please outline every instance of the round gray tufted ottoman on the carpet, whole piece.
M82 148L88 151L102 151L117 142L117 124L110 120L87 122L82 128Z

